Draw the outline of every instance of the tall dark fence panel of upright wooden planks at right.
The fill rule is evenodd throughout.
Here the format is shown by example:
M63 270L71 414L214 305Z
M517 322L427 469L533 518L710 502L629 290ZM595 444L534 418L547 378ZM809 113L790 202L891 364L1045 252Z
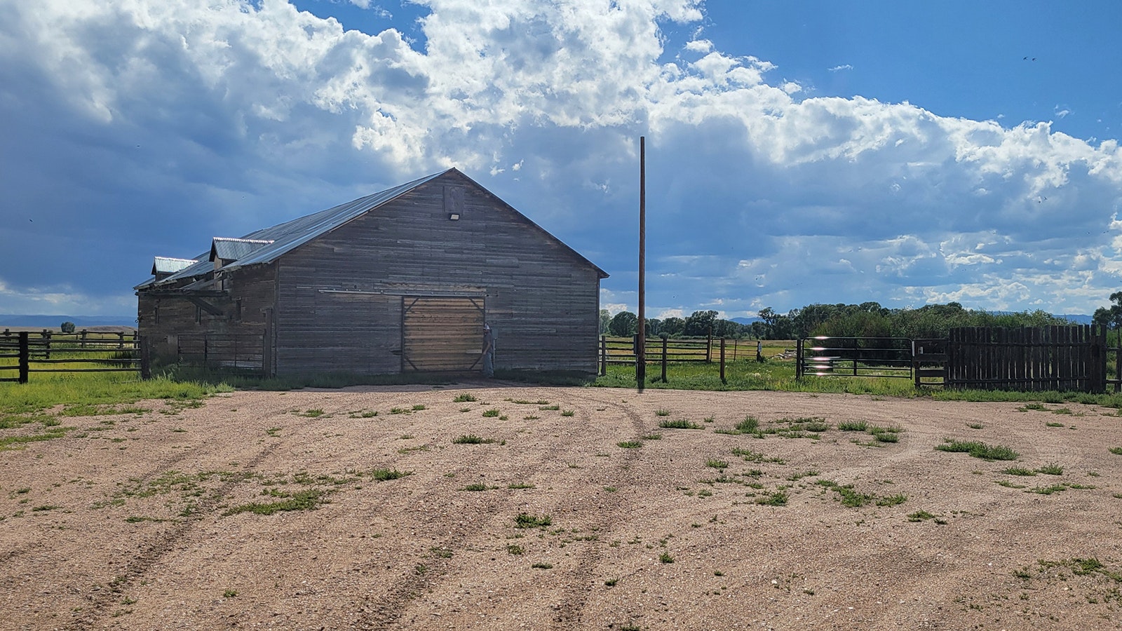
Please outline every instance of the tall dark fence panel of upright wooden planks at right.
M1104 392L1106 331L1102 327L950 329L947 387Z

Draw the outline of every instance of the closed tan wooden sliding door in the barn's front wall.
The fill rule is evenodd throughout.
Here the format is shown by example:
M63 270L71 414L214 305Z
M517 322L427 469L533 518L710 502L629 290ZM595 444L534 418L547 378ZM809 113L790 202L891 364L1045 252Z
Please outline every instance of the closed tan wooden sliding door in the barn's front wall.
M479 369L484 299L402 299L402 372Z

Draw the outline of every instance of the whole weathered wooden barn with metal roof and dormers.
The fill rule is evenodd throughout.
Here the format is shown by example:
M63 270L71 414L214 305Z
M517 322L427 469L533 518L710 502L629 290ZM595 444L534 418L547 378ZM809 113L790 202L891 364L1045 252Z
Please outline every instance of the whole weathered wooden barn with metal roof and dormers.
M268 375L595 373L607 274L456 168L256 230L137 285L154 359Z

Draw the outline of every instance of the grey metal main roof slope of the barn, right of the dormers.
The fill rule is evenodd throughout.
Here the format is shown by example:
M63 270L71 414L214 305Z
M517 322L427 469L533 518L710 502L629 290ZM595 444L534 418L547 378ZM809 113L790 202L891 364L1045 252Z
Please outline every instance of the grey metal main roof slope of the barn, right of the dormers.
M237 262L228 265L227 268L232 269L245 265L256 265L259 263L269 263L275 260L278 256L288 253L307 241L311 241L320 235L347 223L364 212L378 208L394 198L405 194L421 184L443 175L444 173L447 173L447 171L433 173L432 175L414 180L413 182L402 184L401 186L387 189L380 193L374 193L373 195L367 195L327 210L321 210L320 212L309 214L307 217L301 217L298 219L293 219L292 221L286 221L285 223L273 226L272 228L264 228L261 230L250 232L242 238L272 240L273 243L261 247L249 256L239 258Z

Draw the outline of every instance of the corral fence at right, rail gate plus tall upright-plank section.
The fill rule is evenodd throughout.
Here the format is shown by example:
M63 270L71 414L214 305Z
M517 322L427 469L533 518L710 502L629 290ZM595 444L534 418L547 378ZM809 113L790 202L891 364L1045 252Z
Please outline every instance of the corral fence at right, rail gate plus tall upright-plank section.
M1114 360L1114 377L1107 364ZM1012 391L1114 392L1122 388L1122 351L1103 327L950 329L946 339L804 338L795 377L911 378L917 386Z

